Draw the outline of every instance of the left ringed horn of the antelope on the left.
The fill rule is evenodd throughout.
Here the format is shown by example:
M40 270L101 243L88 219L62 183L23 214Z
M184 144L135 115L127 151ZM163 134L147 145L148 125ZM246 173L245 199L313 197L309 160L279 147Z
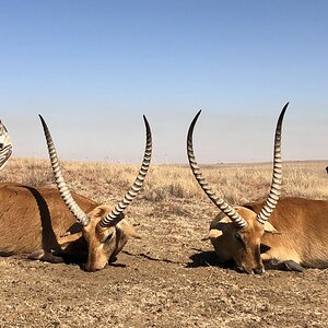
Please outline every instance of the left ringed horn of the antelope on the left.
M72 214L75 216L77 221L85 226L85 225L89 224L90 219L84 213L84 211L81 210L81 208L78 206L78 203L73 199L73 197L72 197L72 195L71 195L71 192L70 192L70 190L69 190L69 188L68 188L68 186L67 186L67 184L63 179L63 176L61 174L61 169L60 169L60 166L59 166L56 148L55 148L51 134L49 132L49 129L48 129L44 118L40 115L38 115L38 116L39 116L40 121L43 124L45 137L46 137L46 140L47 140L47 145L48 145L50 163L51 163L56 185L58 187L60 196L63 199L67 207L72 212Z

